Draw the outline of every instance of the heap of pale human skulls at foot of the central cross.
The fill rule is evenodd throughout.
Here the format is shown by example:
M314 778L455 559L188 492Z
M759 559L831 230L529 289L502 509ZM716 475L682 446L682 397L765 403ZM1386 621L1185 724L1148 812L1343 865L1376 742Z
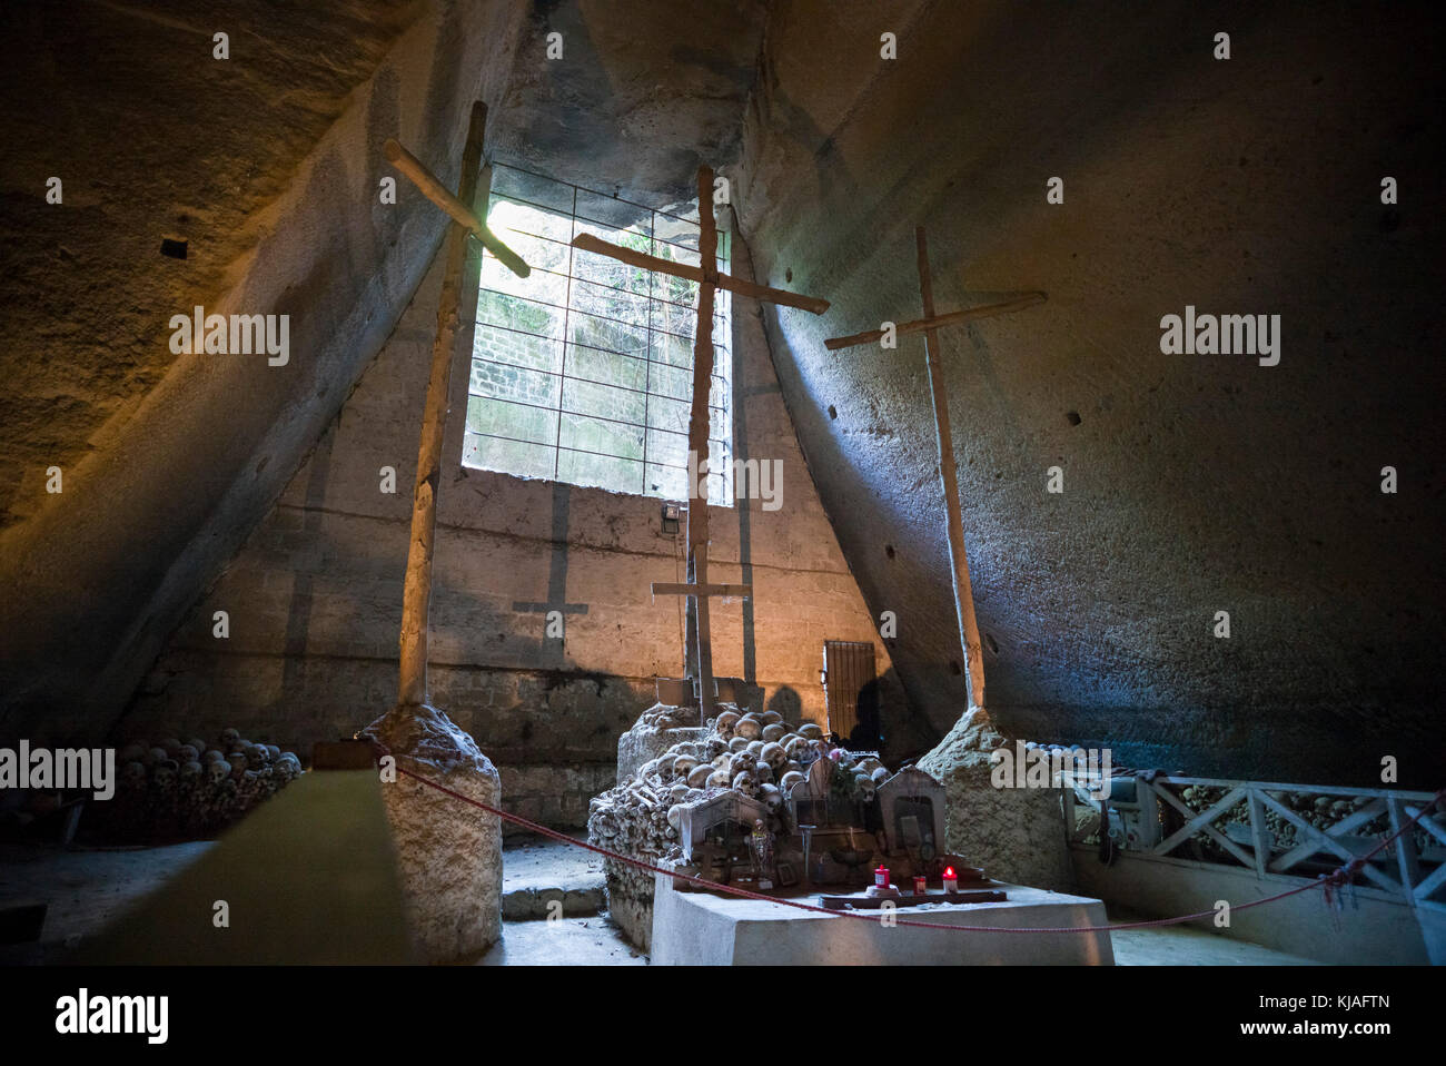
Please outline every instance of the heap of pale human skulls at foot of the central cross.
M706 728L701 739L672 745L628 781L593 797L589 839L628 855L675 858L683 804L733 790L762 800L782 827L788 791L816 759L831 758L849 771L836 772L834 784L863 801L891 775L872 755L830 748L817 723L791 726L774 710L723 710Z

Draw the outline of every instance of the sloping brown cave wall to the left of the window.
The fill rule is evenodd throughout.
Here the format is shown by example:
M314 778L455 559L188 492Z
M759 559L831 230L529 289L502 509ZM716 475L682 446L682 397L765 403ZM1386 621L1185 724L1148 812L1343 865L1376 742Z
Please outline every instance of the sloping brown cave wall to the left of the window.
M0 738L103 736L276 500L444 231L405 182L379 202L382 142L454 182L469 107L502 95L523 14L9 13L23 55L4 65L22 82L7 98L29 107L6 123L29 149L3 184L23 244L7 257L6 434L22 441L0 479ZM228 59L211 58L213 30ZM48 174L61 205L43 201ZM188 239L188 257L162 257L162 237ZM288 314L289 362L172 354L171 315L194 305Z

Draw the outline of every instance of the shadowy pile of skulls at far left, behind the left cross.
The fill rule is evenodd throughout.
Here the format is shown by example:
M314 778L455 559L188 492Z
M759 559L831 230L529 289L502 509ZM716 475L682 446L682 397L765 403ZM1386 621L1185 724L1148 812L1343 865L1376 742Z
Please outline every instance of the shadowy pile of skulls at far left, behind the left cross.
M214 833L301 777L301 759L223 729L217 743L132 741L116 754L120 781L95 804L107 837L149 840Z

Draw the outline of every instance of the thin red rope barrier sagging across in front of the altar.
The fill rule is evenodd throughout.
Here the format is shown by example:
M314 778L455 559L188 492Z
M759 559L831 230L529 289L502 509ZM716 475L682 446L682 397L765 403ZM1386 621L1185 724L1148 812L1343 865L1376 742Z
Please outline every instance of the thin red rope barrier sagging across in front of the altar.
M386 749L385 745L373 743L373 746L379 751L380 755L389 755L390 754ZM492 806L489 806L486 803L482 803L480 800L474 800L470 796L463 796L461 793L458 793L458 791L455 791L453 788L448 788L444 784L438 784L437 781L425 778L421 774L414 774L411 769L406 769L406 768L403 768L401 765L396 767L396 772L405 774L406 777L409 777L414 781L418 781L418 783L427 785L428 788L435 788L438 793L444 793L445 796L451 796L454 800L461 800L463 803L467 803L467 804L470 804L473 807L477 807L479 810L484 810L489 814L496 814L500 819L506 819L508 822L512 822L513 824L522 826L523 829L529 829L534 833L541 833L542 836L551 837L552 840L558 840L561 843L567 843L567 845L571 845L574 848L583 848L586 850L596 852L597 855L603 855L603 856L606 856L609 859L617 859L619 862L626 862L630 866L636 866L639 869L646 869L646 871L649 871L652 874L664 874L664 875L671 877L671 878L674 878L677 881L687 881L688 884L697 885L698 888L706 888L706 890L710 890L710 891L724 892L727 895L737 895L737 897L742 897L742 898L746 898L746 900L761 900L763 903L777 903L781 907L792 907L792 908L801 910L801 911L813 911L814 914L827 914L829 917L833 917L833 918L859 918L859 920L863 920L863 921L881 921L881 917L875 916L875 914L865 914L865 913L860 913L860 911L847 911L847 910L830 910L829 907L818 907L818 905L811 904L811 903L798 903L797 900L779 900L778 897L765 895L763 892L753 892L753 891L750 891L748 888L739 888L736 885L723 885L723 884L719 884L716 881L707 881L704 878L693 877L691 874L678 874L678 872L674 872L671 869L665 869L662 866L654 866L651 862L643 862L642 859L635 859L630 855L623 855L623 853L615 852L615 850L612 850L609 848L599 848L597 845L589 843L587 840L578 840L577 837L568 836L567 833L560 833L555 829L549 829L549 827L547 827L544 824L539 824L536 822L525 819L521 814L510 814L510 813L508 813L505 810L499 810L497 807L492 807ZM1343 887L1343 885L1351 884L1351 879L1355 877L1355 874L1359 872L1359 869L1362 866L1365 866L1365 864L1369 859L1372 859L1375 855L1378 855L1379 852L1382 852L1385 848L1390 848L1392 843L1395 843L1395 840L1403 833L1406 833L1408 829L1414 827L1417 822L1420 822L1423 817L1426 817L1426 814L1429 814L1430 810L1436 804L1439 804L1442 801L1442 798L1446 798L1446 788L1442 788L1440 791L1437 791L1436 796L1432 797L1432 800L1421 807L1421 810L1416 814L1416 817L1413 817L1410 822L1407 822L1398 830L1395 830L1394 833L1391 833L1391 836L1388 836L1384 840L1381 840L1381 843L1378 843L1375 848L1372 848L1365 855L1352 859L1351 862L1348 862L1346 865L1335 869L1333 872L1330 872L1330 874L1322 874L1316 881L1307 882L1304 885L1297 885L1296 888L1288 888L1284 892L1275 892L1275 895L1267 895L1262 900L1251 900L1249 903L1236 904L1235 907L1231 908L1231 911L1244 911L1244 910L1249 910L1251 907L1264 907L1267 903L1275 903L1277 900L1285 900L1285 898L1288 898L1291 895L1299 895L1300 892L1307 892L1312 888L1325 888L1326 892L1327 892L1327 898L1329 898L1329 890L1332 887ZM910 918L891 918L891 924L894 924L894 926L907 926L910 929L943 929L943 930L951 930L951 931L959 931L959 933L1112 933L1112 931L1121 930L1121 929L1148 929L1148 927L1152 927L1152 926L1180 926L1180 924L1184 924L1187 921L1199 921L1200 918L1213 918L1215 914L1216 914L1215 910L1207 910L1207 911L1197 911L1194 914L1180 914L1180 916L1176 916L1173 918L1148 918L1148 920L1142 920L1142 921L1122 921L1122 923L1119 923L1116 926L1060 926L1057 929L1051 929L1048 926L1044 926L1044 927L1024 927L1024 926L1011 926L1011 927L951 926L951 924L946 924L943 921L912 921Z

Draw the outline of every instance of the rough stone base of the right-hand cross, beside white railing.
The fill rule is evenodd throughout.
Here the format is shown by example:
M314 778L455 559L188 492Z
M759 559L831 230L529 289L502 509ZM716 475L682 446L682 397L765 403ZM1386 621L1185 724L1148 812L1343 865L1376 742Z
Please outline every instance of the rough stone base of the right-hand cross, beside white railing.
M998 879L1067 891L1074 885L1058 788L995 788L989 754L1005 743L989 715L964 712L918 768L944 784L949 850Z

